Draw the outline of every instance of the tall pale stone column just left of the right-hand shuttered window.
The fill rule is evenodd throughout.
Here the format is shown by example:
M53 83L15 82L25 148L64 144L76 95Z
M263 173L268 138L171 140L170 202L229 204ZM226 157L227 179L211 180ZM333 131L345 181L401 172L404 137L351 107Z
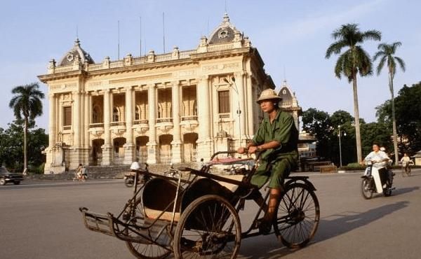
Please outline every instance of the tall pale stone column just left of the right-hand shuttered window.
M211 139L210 139L210 94L209 94L209 76L199 78L197 86L197 104L198 104L198 120L199 120L199 138L198 144L198 160L203 158L205 161L210 159L211 155Z

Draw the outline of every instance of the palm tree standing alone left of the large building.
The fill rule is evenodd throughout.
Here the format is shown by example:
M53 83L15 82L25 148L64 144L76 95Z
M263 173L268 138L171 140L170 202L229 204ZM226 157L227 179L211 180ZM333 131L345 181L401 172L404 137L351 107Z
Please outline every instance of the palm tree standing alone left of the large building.
M34 120L36 116L42 115L41 99L44 98L44 93L39 90L38 83L31 83L29 85L18 85L12 90L15 94L9 102L9 107L13 109L13 113L18 120L23 117L23 156L24 169L27 172L27 132L29 120Z

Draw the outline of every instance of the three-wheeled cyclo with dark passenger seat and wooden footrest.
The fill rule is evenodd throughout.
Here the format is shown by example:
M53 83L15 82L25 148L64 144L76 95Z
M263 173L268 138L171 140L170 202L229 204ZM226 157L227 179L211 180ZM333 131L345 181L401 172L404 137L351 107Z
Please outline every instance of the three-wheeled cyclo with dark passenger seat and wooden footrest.
M135 177L133 197L117 215L97 214L79 208L89 230L126 241L137 258L236 258L241 239L262 235L256 223L265 212L269 192L263 197L250 184L258 167L253 158L234 158L235 151L213 154L198 169L179 168L178 178L149 172L147 165L132 165ZM215 174L221 167L231 174ZM286 179L272 232L288 248L301 248L315 235L319 225L319 201L308 176ZM253 223L241 232L239 212L246 200L260 195ZM254 200L254 199L253 199Z

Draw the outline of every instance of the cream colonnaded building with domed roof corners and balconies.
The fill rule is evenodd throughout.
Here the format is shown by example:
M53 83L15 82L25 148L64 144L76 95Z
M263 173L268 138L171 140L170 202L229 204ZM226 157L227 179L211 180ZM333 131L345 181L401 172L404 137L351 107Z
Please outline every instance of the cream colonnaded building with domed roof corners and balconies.
M83 165L207 160L245 144L274 89L264 62L225 14L194 50L95 63L79 40L39 79L48 85L45 172Z

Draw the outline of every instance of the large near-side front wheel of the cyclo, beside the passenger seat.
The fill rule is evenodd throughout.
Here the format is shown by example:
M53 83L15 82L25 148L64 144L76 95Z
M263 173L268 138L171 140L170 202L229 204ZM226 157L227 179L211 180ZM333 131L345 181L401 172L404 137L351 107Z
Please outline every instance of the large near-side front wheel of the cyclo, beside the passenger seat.
M236 258L241 223L232 205L218 195L200 197L182 212L174 235L175 258Z

